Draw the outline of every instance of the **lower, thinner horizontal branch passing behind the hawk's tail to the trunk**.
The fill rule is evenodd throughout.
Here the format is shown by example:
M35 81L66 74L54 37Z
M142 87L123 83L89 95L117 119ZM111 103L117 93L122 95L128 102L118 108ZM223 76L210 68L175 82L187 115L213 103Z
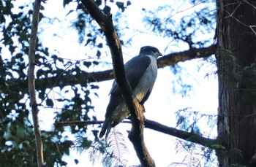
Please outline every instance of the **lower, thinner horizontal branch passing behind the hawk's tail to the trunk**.
M63 126L74 126L74 125L97 125L102 124L104 121L70 121L70 122L56 122L55 128L60 128ZM122 123L131 123L130 121L123 121ZM196 144L203 145L208 148L214 148L214 144L219 144L217 139L209 139L203 136L200 136L196 133L191 133L187 131L182 131L176 128L169 127L167 125L162 125L161 123L157 123L154 120L145 120L145 128L149 128L154 131L158 131L160 133L165 133L170 136L174 136L178 139L183 139L185 141L192 141Z

